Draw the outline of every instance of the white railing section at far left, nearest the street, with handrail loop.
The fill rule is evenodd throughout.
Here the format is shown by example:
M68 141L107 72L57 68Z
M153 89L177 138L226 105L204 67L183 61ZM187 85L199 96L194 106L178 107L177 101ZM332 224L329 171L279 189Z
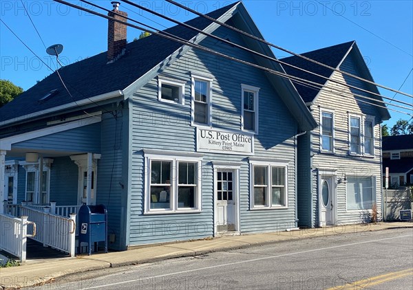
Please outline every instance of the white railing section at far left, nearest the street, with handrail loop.
M27 234L28 224L32 225L33 234ZM26 260L26 241L28 237L36 236L36 224L28 221L28 216L16 218L0 214L0 248L19 257L21 262Z

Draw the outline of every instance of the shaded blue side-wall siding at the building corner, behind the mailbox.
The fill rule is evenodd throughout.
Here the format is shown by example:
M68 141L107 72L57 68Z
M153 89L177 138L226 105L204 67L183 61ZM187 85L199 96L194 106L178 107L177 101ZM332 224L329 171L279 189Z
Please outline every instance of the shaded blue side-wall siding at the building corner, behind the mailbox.
M125 109L126 110L126 109ZM122 184L127 184L127 177L123 175L123 140L127 134L127 126L123 125L123 111L104 113L102 115L101 148L100 159L98 160L98 179L96 190L96 204L104 204L108 215L108 234L115 234L115 243L109 243L111 249L124 249L121 245L120 235L125 231L121 226L121 220L126 209L121 202L123 196L127 194L127 188L122 188ZM126 161L126 160L125 160Z

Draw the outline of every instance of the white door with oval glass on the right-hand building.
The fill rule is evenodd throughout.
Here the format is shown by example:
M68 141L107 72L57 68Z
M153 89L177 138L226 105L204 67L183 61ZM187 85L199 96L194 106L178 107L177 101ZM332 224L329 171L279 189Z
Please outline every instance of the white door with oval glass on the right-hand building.
M319 201L321 203L321 226L334 225L334 197L335 186L331 176L321 178Z

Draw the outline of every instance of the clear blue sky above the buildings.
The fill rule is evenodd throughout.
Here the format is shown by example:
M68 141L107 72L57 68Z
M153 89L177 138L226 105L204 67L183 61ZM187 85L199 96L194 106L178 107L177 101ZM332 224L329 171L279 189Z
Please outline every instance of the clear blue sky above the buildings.
M89 1L112 8L109 0ZM87 6L78 0L70 2ZM165 1L135 2L180 21L194 17ZM199 12L210 12L233 1L180 2ZM20 0L0 1L0 17L50 67L55 67L54 60L45 53L28 14L46 47L55 43L64 45L60 59L66 65L107 50L106 19L51 0L23 0L23 3L28 13ZM399 89L413 68L413 1L246 0L244 4L267 41L293 52L308 52L355 40L374 80L393 89ZM121 4L120 10L128 12L131 18L156 27L173 25L127 4ZM139 34L140 31L129 27L128 41ZM288 56L277 50L275 55L279 58ZM0 78L11 80L23 89L29 89L36 80L42 80L51 73L3 23L0 23L0 60ZM401 91L413 93L413 73ZM383 89L381 93L390 98L394 96L391 91ZM395 100L413 104L413 99L407 96L397 95ZM400 118L409 119L409 116L394 111L390 114L392 119L385 122L389 126Z

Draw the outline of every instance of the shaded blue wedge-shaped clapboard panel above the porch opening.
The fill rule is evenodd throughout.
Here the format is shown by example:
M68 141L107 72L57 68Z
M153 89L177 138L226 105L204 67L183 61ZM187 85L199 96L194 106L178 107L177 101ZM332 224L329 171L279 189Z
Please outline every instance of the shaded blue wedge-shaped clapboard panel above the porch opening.
M12 148L30 150L54 150L69 152L94 152L100 151L100 124L92 124L76 129L34 138L12 145Z

